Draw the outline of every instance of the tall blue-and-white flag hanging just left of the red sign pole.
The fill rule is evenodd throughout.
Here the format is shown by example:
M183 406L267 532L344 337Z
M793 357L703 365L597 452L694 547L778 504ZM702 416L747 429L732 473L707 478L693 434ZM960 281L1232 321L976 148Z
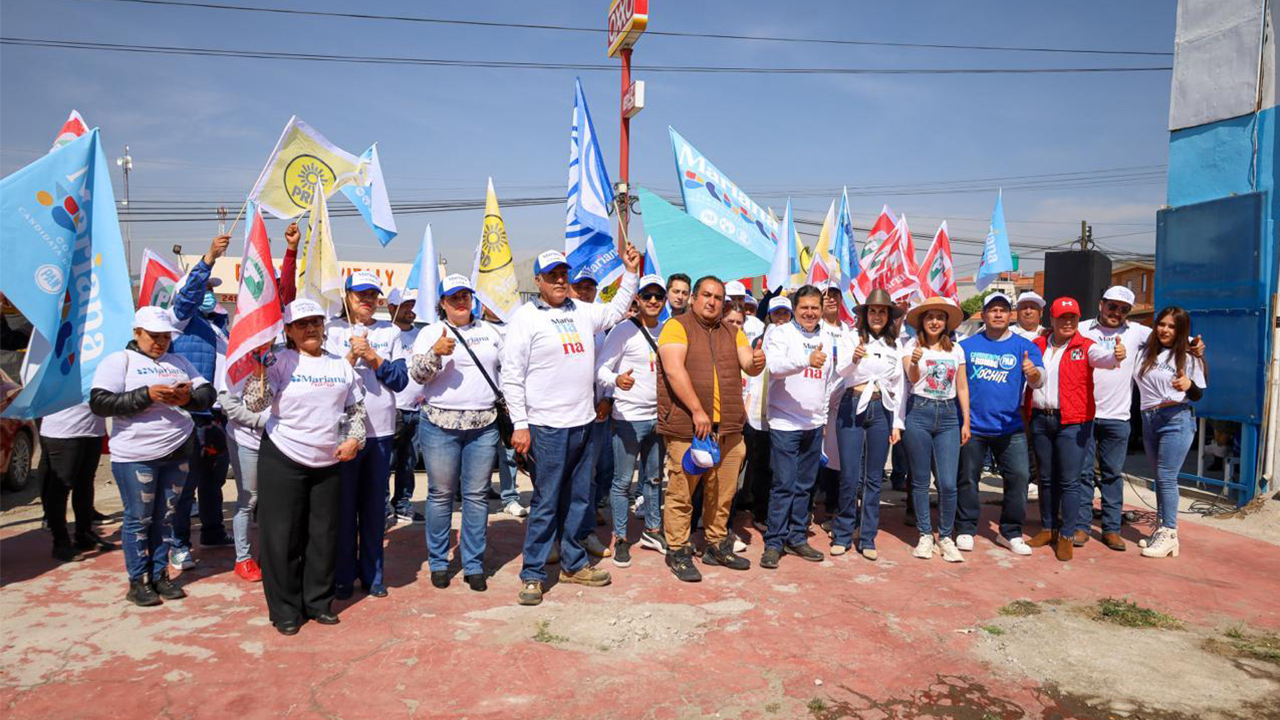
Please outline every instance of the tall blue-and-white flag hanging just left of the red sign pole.
M622 277L622 258L613 242L609 206L613 186L604 168L599 137L586 108L582 81L575 82L573 126L568 140L568 196L564 202L564 258L570 275L586 269L602 287Z

